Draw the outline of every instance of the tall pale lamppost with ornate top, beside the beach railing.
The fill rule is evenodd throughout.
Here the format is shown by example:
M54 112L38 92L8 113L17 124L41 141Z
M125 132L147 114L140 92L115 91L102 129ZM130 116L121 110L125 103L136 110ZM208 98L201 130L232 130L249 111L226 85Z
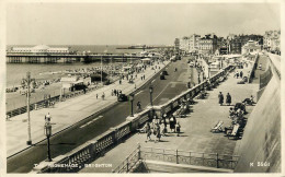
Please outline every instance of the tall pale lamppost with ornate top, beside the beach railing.
M27 86L27 93L26 93L26 113L27 113L27 145L32 145L32 135L31 135L31 119L30 119L30 97L31 97L31 82L34 81L35 79L31 79L31 72L26 72L26 79L22 80L22 83L26 83Z

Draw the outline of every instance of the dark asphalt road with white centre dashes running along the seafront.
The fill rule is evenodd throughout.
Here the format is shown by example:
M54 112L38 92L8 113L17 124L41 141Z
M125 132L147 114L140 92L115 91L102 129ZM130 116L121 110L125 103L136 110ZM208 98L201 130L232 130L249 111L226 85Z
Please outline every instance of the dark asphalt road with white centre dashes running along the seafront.
M196 71L191 71L195 69L190 69L186 64L186 61L187 59L183 58L182 60L171 63L166 69L169 73L169 75L166 76L166 80L160 80L159 76L153 79L153 81L151 82L151 84L153 85L153 105L166 103L168 99L185 91L187 88L186 83L189 82L190 73L194 73L191 74L191 80L196 81ZM178 68L176 72L174 72L175 68ZM141 103L142 108L150 104L149 84L150 83L146 84L137 91L137 94L134 98L134 108L136 108L135 105L138 101ZM83 144L84 142L102 134L110 128L124 122L129 114L129 102L118 103L109 110L105 110L100 115L95 115L94 118L87 119L86 121L82 121L77 126L71 127L70 129L62 131L57 135L54 135L50 139L52 157L65 154ZM103 117L100 119L95 119L99 116ZM91 123L81 127L87 122ZM34 164L41 163L46 158L46 141L43 141L38 144L35 144L33 148L8 158L7 172L29 173L34 167Z

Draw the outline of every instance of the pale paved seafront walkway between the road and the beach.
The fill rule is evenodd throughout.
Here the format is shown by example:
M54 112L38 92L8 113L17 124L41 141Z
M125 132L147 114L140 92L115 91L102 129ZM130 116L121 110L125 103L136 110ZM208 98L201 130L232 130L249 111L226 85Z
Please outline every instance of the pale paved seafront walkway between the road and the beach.
M168 62L164 62L167 64ZM164 67L163 63L156 63L160 70ZM124 94L129 94L135 91L135 87L138 88L144 85L149 79L151 79L158 69L151 70L151 67L148 67L147 70L137 75L135 79L136 84L129 84L126 80L123 80L122 84L118 84L118 81L99 88L96 91L87 93L66 102L61 102L55 105L55 108L43 108L39 110L31 111L31 133L32 142L36 143L45 139L44 135L44 117L47 113L52 115L52 122L56 123L53 126L53 134L72 126L73 123L84 119L86 117L110 106L117 102L116 96L111 96L111 91L122 90ZM145 74L146 79L141 81L140 76ZM136 85L136 86L135 86ZM105 99L102 101L101 95L105 94ZM96 94L99 98L96 99ZM27 141L27 114L22 114L11 118L5 122L7 127L7 156L10 156L14 153L18 153L26 148Z

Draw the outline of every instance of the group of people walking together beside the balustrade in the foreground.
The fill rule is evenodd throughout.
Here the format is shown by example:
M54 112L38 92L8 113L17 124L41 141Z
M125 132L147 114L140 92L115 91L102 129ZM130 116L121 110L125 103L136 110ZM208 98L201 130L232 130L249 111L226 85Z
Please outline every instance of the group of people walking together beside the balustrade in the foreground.
M170 131L168 129L168 125ZM146 142L151 141L152 134L155 135L155 142L158 142L160 141L160 138L162 135L167 137L168 132L174 132L179 137L181 132L180 129L181 129L180 122L176 121L176 118L173 115L168 119L168 122L167 122L167 116L163 115L161 119L155 116L152 121L151 122L148 121L145 125L145 127L140 130L147 134Z

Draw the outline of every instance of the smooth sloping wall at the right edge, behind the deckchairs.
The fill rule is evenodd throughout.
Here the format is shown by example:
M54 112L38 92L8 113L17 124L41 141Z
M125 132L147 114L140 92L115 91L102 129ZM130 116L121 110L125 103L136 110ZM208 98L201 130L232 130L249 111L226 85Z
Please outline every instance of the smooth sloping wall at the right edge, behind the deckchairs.
M248 118L235 173L281 172L281 81L273 75Z

